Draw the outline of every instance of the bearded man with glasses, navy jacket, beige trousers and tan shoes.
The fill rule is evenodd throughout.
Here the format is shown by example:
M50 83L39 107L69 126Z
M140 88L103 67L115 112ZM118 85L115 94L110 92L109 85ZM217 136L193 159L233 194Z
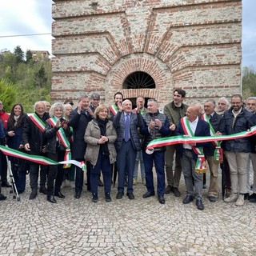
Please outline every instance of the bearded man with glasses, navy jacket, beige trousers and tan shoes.
M240 94L231 97L231 107L223 115L226 123L226 134L237 134L254 126L254 116L245 109ZM250 155L250 138L237 138L225 141L223 148L230 166L231 190L224 202L235 202L236 206L244 205L246 194L246 166Z

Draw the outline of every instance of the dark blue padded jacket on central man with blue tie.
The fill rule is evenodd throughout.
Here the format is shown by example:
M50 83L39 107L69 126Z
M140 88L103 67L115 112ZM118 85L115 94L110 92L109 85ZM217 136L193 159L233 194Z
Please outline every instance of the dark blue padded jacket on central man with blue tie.
M122 146L123 134L125 130L125 115L123 111L122 112L118 111L118 114L114 116L113 124L118 134L118 138L114 143L114 146L116 150L119 151ZM130 113L130 139L134 147L134 150L136 151L141 150L141 142L140 142L137 128L138 127L142 128L142 126L143 126L142 114L131 112Z

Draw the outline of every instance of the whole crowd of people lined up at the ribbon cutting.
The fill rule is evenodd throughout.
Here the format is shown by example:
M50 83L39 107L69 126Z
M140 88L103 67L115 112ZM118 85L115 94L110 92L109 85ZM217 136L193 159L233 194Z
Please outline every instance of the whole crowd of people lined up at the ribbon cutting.
M243 102L240 94L234 94L230 102L225 97L219 98L217 104L213 99L208 99L203 106L187 106L183 103L185 97L185 90L174 90L173 101L166 104L163 113L159 111L156 99L149 98L145 106L145 98L139 95L136 98L137 106L133 108L132 102L124 100L121 92L114 94L112 106L100 102L100 95L96 93L90 97L82 95L74 109L70 100L66 104L55 102L53 106L49 102L36 102L34 114L30 115L24 113L21 104L15 104L10 116L2 118L1 143L15 150L24 150L27 154L46 156L55 162L71 158L78 162L86 160L86 184L87 190L92 193L93 202L98 202L101 174L106 202L112 200L111 184L117 175L116 198L122 199L127 186L126 196L134 199L139 162L142 182L146 185L146 193L142 198L157 194L158 202L164 204L165 194L172 192L174 196L180 197L178 187L183 174L186 197L182 202L188 204L195 199L198 210L203 210L203 174L198 166L199 162L201 166L206 166L207 162L210 170L210 202L218 200L219 166L226 177L226 187L231 190L225 202L235 202L236 206L242 206L245 198L256 202L255 135L222 142L206 140L160 145L155 146L154 150L147 150L149 143L158 138L232 135L246 132L256 125L254 97ZM2 102L2 117L5 112L1 106ZM217 153L222 157L218 158ZM5 158L2 154L2 162ZM253 194L250 194L250 160L254 168ZM49 202L56 203L56 197L65 198L61 187L67 174L75 177L74 198L81 197L84 172L78 166L68 163L44 166L18 158L10 158L10 162L19 193L25 190L26 171L29 170L31 200L38 195L39 174L39 192L46 194ZM157 177L156 190L153 167ZM3 169L2 186L10 186ZM1 194L1 198L3 200L6 197Z

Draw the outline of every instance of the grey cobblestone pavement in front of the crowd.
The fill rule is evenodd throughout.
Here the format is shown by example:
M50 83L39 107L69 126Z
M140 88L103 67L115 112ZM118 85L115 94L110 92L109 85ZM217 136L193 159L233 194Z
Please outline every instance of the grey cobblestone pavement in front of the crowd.
M29 200L29 186L20 202L3 188L0 255L256 255L256 204L211 203L204 190L205 210L197 210L195 202L182 204L183 179L180 190L182 197L167 194L161 205L142 198L142 183L134 186L134 200L117 200L114 188L105 202L99 187L98 203L86 190L75 199L65 187L66 198L52 204L43 194Z

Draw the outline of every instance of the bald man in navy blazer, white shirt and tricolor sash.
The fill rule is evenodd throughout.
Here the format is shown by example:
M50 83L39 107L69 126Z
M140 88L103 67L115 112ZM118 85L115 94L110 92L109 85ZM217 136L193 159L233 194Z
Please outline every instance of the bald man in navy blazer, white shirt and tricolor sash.
M186 117L181 118L176 129L179 135L189 136L210 136L210 126L199 118L198 106L189 106L186 110ZM182 157L182 173L186 184L186 198L183 203L187 204L196 198L198 210L203 210L202 204L202 174L195 171L198 154L202 154L202 148L208 146L208 142L190 143L179 145L179 153Z

